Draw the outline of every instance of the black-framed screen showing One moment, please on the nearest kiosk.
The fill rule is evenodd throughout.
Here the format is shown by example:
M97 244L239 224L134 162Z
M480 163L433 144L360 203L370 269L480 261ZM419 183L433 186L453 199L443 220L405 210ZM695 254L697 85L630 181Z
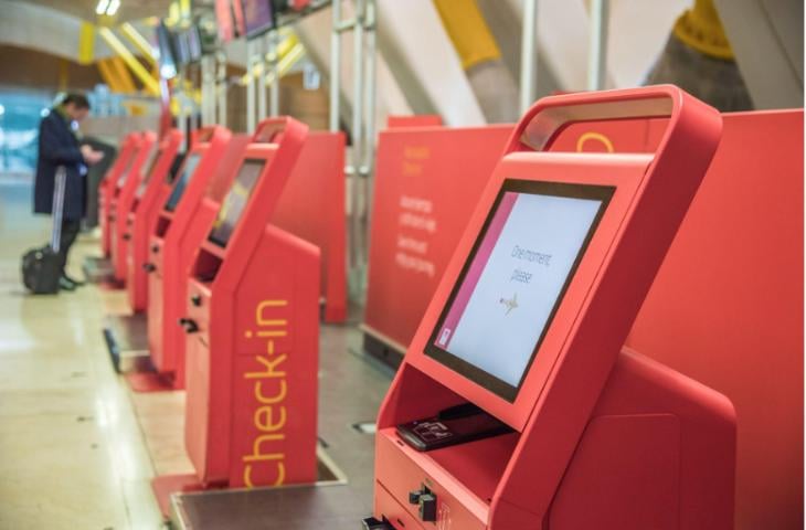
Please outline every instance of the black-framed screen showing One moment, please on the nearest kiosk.
M515 401L613 191L506 181L425 353Z

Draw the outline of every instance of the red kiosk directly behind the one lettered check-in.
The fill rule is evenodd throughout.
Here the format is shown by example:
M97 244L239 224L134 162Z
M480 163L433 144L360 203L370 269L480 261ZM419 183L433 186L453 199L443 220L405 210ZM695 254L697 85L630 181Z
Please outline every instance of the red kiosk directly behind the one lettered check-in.
M208 212L202 198L215 180L235 162L238 146L229 129L206 127L193 132L191 147L162 201L148 243L148 349L159 375L156 388L184 386L184 333L177 321L184 315L187 279L201 241L215 211ZM231 153L230 153L231 151ZM148 382L148 381L146 381Z

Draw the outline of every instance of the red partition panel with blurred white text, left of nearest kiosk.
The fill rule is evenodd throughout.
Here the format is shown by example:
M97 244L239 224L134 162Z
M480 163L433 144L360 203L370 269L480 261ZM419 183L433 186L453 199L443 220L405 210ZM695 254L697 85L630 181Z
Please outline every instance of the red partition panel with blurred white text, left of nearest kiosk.
M380 134L364 326L405 350L512 131Z

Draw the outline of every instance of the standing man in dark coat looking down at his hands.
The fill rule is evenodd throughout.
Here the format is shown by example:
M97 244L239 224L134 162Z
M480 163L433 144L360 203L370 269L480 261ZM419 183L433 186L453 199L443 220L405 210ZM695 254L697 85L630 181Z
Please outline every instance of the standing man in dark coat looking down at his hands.
M53 107L40 123L39 159L36 180L33 187L33 210L35 213L53 213L53 192L56 168L66 169L64 190L64 213L62 216L62 237L59 244L59 258L62 275L59 286L63 290L74 290L82 282L72 279L65 273L67 253L81 229L86 211L87 166L97 163L104 155L89 146L79 146L74 124L78 124L89 113L89 102L82 94L67 94Z

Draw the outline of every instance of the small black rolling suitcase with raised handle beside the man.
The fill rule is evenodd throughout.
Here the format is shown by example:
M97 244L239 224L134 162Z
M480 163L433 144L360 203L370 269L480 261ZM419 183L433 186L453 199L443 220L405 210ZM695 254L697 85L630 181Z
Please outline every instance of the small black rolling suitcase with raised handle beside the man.
M67 172L64 167L56 169L53 190L53 234L51 243L43 247L31 248L22 256L22 283L34 295L59 293L59 278L62 264L59 258L59 244L62 239L62 216L64 214L64 189Z

